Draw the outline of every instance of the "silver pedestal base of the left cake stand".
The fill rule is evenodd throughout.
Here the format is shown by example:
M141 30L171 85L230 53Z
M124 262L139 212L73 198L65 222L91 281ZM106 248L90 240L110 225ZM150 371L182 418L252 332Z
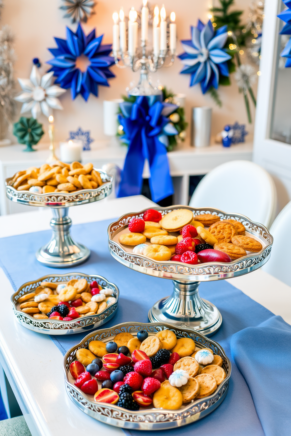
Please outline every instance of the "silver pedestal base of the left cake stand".
M68 208L51 209L53 234L50 242L36 252L38 262L52 268L69 268L85 262L89 258L90 250L73 240L70 234L72 221L68 217Z

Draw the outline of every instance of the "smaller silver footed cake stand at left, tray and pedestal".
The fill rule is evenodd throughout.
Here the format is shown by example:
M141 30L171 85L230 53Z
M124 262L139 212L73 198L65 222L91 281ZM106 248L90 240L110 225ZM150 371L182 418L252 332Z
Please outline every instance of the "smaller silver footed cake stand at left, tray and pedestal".
M68 217L68 208L102 200L111 193L113 177L103 170L94 169L99 171L103 184L96 189L82 189L69 194L17 191L11 186L13 177L6 179L6 195L11 201L52 210L51 240L36 252L36 258L43 265L52 268L69 268L89 258L90 250L85 245L75 242L71 236L72 220Z

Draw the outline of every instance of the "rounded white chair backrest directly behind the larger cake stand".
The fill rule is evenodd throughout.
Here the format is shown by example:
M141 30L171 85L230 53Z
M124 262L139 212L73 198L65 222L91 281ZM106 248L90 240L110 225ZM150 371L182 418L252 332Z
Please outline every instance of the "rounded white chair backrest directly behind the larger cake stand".
M203 177L189 206L237 212L267 228L275 218L277 193L264 168L248 160L219 165Z

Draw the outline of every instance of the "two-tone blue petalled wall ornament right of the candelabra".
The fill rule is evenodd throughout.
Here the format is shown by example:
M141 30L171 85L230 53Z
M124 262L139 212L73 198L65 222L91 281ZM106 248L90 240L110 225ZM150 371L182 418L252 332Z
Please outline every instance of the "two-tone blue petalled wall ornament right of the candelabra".
M200 83L203 94L210 86L219 85L219 74L229 75L227 61L231 56L223 50L228 34L227 26L213 30L211 21L191 26L192 39L181 41L185 53L179 55L184 64L181 74L191 74L190 86Z

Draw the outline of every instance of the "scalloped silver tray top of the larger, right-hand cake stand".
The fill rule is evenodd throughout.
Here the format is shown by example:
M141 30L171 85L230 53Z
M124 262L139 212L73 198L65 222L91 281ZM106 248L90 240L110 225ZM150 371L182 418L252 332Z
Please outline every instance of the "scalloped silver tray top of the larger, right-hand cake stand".
M189 206L175 205L168 208L155 207L155 209L164 216L174 209L188 209L193 211L193 215L199 221L200 214L213 214L216 213L222 219L236 219L243 223L246 227L246 232L249 236L255 236L263 245L263 249L258 253L248 253L240 259L233 260L233 262L205 262L199 263L195 266L182 264L181 262L155 262L144 255L135 254L130 250L130 247L121 245L118 242L118 233L125 229L132 217L142 218L144 209L140 212L131 212L122 215L117 221L113 222L108 227L108 247L111 255L118 260L118 262L134 269L135 271L148 274L150 276L162 277L164 279L181 280L183 282L194 281L209 281L229 279L235 276L241 276L248 272L260 268L267 262L271 247L273 244L273 237L268 232L267 228L259 223L251 221L244 215L237 213L227 213L214 208L191 208Z

